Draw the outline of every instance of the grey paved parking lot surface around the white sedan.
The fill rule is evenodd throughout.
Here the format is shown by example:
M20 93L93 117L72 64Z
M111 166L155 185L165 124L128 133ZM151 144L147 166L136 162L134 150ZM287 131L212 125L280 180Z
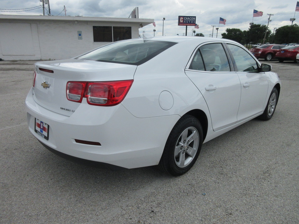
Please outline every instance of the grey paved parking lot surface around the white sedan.
M170 177L78 165L45 149L26 125L34 63L0 62L0 223L299 223L298 64L267 62L282 81L271 120L207 142L187 174Z

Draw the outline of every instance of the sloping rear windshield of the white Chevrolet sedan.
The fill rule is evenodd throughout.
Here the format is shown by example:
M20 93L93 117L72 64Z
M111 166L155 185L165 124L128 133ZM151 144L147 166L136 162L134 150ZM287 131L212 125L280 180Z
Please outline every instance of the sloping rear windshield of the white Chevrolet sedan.
M157 40L123 40L102 46L76 59L140 65L174 44L177 43Z

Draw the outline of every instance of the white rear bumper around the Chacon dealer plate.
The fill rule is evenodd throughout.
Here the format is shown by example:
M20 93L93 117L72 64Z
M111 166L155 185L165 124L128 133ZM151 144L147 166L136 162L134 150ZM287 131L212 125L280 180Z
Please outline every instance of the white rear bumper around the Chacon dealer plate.
M71 116L65 116L36 104L32 89L26 97L26 111L29 130L52 152L124 168L157 165L168 134L180 118L136 118L121 104L101 107L86 102ZM35 118L49 125L49 140L35 132ZM82 144L75 139L101 145Z

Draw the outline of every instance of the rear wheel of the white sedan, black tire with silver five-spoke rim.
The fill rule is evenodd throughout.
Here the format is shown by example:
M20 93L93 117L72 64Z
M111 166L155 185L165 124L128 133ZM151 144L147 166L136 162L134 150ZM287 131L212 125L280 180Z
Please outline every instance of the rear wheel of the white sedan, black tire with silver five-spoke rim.
M197 160L202 148L202 136L199 120L191 115L184 115L168 136L159 167L173 176L186 173Z

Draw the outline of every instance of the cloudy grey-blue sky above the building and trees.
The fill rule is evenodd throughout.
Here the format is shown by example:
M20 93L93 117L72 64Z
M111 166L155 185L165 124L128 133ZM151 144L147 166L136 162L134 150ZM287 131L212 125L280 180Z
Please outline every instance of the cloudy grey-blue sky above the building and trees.
M226 28L239 28L248 30L249 23L267 25L268 14L271 16L269 29L291 25L290 18L294 17L297 0L49 0L50 11L54 16L64 16L63 7L66 7L67 16L92 16L92 17L118 17L128 18L131 11L138 7L139 18L154 19L156 23L155 35L162 35L163 17L164 35L185 35L186 27L178 26L178 16L196 16L199 29L196 33L210 36L212 25L218 27L219 17L226 19L226 25L220 24L218 38ZM3 15L42 15L42 8L23 11L19 9L38 7L42 5L39 0L0 0L0 14ZM12 12L22 11L22 12ZM253 10L263 12L262 17L254 17ZM28 10L28 9L25 9ZM3 12L9 11L9 12ZM295 14L299 22L299 12ZM214 27L214 37L216 30ZM192 35L192 28L188 27L187 35ZM154 34L152 24L139 29L142 32Z

